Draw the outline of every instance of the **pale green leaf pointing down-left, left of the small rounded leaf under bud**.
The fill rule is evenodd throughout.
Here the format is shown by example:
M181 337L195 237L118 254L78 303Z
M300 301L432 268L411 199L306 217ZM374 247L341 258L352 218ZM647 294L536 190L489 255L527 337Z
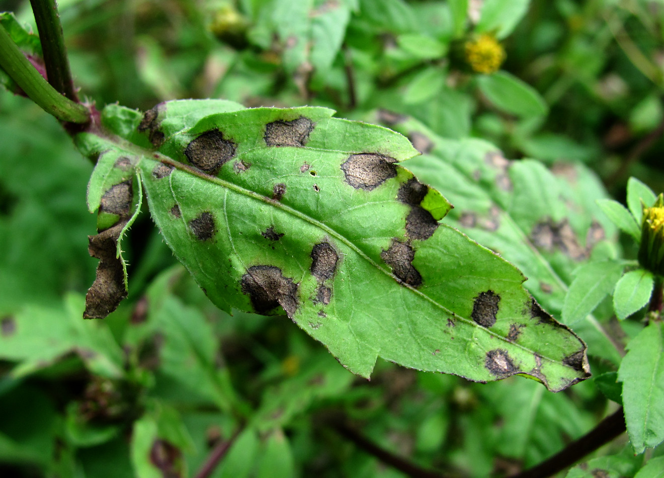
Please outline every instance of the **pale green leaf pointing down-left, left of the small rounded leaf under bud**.
M614 290L624 268L622 262L614 260L580 266L565 297L562 321L572 325L592 313L602 299Z

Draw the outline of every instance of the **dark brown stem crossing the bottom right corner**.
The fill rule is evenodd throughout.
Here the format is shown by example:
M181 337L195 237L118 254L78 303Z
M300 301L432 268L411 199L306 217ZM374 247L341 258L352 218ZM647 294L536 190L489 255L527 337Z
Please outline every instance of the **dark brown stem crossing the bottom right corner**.
M542 461L539 465L521 471L509 478L546 478L570 467L588 453L612 441L625 432L625 418L622 407L613 415L604 418L593 430L576 441L572 441L561 451Z

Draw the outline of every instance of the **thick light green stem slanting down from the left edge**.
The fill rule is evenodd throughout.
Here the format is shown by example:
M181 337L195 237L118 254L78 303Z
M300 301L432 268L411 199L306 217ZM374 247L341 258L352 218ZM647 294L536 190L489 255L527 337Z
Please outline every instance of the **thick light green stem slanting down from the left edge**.
M88 123L90 112L82 104L74 103L58 93L33 67L30 61L0 26L0 66L42 110L62 121Z

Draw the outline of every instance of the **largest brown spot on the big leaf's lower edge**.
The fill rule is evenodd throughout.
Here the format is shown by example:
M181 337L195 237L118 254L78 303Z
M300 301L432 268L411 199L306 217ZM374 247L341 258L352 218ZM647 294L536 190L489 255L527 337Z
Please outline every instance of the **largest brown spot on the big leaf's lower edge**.
M281 305L288 317L292 317L297 309L297 283L285 278L278 267L252 266L242 276L240 285L257 313L268 315Z

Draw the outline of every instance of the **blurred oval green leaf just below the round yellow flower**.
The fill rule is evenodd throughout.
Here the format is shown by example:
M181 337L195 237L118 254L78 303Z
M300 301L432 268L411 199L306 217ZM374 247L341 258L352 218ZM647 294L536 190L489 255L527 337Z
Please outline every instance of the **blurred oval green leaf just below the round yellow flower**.
M507 72L478 76L477 86L496 108L504 112L523 118L548 113L548 106L537 90Z

